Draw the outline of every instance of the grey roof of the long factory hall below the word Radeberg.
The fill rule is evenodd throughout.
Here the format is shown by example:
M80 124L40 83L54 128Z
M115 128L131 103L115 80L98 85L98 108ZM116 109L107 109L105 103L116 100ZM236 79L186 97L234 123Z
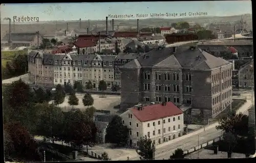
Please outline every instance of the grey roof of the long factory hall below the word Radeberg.
M11 38L13 41L33 41L35 38L36 32L19 32L12 33ZM9 40L9 33L5 35L3 40Z

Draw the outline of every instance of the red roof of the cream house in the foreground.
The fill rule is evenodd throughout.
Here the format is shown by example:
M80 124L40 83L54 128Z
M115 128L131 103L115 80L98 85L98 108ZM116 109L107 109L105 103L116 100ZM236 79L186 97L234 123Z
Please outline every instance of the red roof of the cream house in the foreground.
M147 105L143 107L143 110L139 110L135 107L132 108L131 111L140 122L172 117L183 113L183 111L172 102L166 102L165 106L162 104Z

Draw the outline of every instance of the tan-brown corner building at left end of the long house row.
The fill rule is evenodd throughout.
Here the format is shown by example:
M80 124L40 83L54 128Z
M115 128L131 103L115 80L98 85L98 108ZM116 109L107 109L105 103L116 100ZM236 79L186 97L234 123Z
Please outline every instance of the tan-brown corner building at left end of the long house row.
M30 81L43 86L53 85L53 56L39 51L28 53Z

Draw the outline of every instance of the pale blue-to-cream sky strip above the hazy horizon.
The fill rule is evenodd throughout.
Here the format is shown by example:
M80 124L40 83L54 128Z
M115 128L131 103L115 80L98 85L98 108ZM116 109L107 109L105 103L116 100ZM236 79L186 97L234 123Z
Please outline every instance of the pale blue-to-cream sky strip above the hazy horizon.
M163 18L189 17L189 12L204 12L209 16L231 16L252 13L251 1L199 1L199 2L115 2L115 3L45 3L1 4L1 21L5 17L38 17L39 21L102 20L111 15L137 15L163 13ZM176 17L165 13L177 13ZM186 16L180 16L186 13ZM159 16L153 16L159 17ZM121 19L137 19L121 18ZM120 19L120 18L118 18Z

